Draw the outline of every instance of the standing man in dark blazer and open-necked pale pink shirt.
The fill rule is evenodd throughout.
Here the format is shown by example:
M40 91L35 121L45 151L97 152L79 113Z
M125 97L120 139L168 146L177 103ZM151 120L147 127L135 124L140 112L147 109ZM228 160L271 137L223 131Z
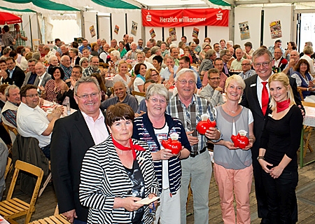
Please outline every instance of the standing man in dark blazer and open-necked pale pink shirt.
M96 95L95 95L96 94ZM70 223L86 223L88 208L79 200L80 169L85 152L108 136L97 80L80 78L74 87L79 110L55 123L50 144L51 172L59 212Z

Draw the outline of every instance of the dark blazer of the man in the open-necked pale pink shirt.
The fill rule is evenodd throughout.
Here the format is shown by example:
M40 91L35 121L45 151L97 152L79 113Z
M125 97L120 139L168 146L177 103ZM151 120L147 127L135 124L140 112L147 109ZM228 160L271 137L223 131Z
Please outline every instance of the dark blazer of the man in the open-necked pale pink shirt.
M58 119L52 131L50 156L52 180L59 212L76 209L78 220L87 221L88 208L80 204L78 190L85 152L94 146L80 111Z

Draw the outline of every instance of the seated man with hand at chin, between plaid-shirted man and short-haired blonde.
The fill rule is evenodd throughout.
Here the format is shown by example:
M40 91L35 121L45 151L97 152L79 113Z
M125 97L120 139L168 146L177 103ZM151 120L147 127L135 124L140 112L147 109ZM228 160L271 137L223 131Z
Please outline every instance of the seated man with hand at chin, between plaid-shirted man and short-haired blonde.
M204 76L206 78L206 76ZM201 91L200 91L200 97L204 97L208 99L209 102L213 106L219 106L222 105L223 102L223 89L218 86L220 84L220 75L218 69L210 69L207 72L207 78L208 78L208 85L206 85Z

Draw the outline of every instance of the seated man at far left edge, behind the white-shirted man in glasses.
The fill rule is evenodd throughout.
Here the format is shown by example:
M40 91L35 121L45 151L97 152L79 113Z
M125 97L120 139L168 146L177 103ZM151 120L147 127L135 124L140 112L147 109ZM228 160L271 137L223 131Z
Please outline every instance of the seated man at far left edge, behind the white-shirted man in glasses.
M17 128L16 113L21 103L20 88L16 85L9 85L4 92L6 94L6 104L1 110L2 121L5 125Z

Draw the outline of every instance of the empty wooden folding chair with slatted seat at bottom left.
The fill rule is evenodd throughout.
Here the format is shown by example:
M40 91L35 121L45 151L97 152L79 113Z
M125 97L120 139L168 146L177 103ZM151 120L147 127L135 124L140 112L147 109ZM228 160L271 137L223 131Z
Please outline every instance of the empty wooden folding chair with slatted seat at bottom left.
M34 189L34 193L31 196L31 202L23 202L18 198L12 198L13 190L15 188L15 183L18 179L19 172L27 172L29 174L33 174L37 177L36 186ZM17 160L15 162L15 171L13 174L13 178L10 184L10 188L8 190L8 196L5 201L0 202L0 215L3 216L9 223L16 223L13 221L13 218L18 218L21 216L25 216L25 223L29 223L31 220L31 214L35 211L35 202L38 195L38 190L41 186L41 180L43 179L43 170L35 167L34 165L30 165L27 162L22 162Z

